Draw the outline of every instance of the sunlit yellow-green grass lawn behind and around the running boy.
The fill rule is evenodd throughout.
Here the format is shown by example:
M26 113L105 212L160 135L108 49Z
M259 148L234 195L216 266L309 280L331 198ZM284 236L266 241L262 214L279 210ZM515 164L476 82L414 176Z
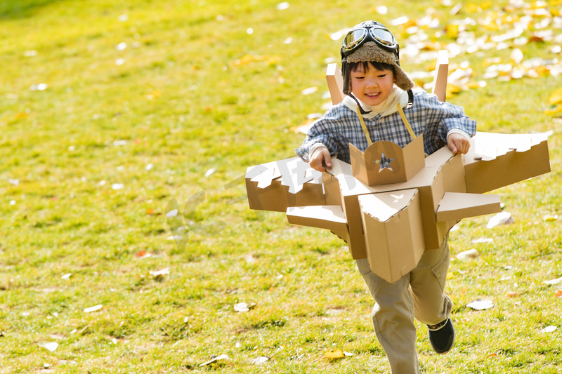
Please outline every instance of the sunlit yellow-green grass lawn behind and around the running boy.
M326 61L339 57L333 32L433 12L440 26L428 34L440 32L443 47L455 41L446 25L470 17L476 36L503 34L509 27L483 20L529 10L498 1L471 13L461 1L451 15L436 1L396 0L380 15L369 1L279 3L0 1L0 373L388 372L344 243L249 211L240 178L292 156L303 140L292 128L323 111ZM556 35L557 25L546 29ZM391 28L404 47L405 27ZM525 60L560 58L550 50L559 44L516 48ZM483 62L508 62L513 48L451 64L469 61L481 81ZM431 64L402 61L406 72ZM561 370L562 299L543 283L562 276L560 221L543 219L561 214L562 122L544 114L560 86L549 74L488 79L448 99L481 131L553 131L553 171L497 191L514 224L486 229L489 217L473 218L452 233L453 255L482 255L450 267L455 349L434 354L419 326L423 373ZM178 245L164 216L174 199L191 222ZM493 241L472 242L482 237ZM465 307L476 298L495 306ZM238 302L252 308L235 312ZM353 356L325 359L334 349ZM200 366L220 354L230 360ZM260 356L270 360L252 363Z

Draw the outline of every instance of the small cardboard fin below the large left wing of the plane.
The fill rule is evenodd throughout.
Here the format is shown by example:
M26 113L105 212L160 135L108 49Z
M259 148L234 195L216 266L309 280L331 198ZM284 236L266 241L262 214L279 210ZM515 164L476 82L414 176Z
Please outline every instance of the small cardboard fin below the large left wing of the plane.
M294 225L329 229L344 240L348 235L346 217L339 205L289 207L287 220Z

